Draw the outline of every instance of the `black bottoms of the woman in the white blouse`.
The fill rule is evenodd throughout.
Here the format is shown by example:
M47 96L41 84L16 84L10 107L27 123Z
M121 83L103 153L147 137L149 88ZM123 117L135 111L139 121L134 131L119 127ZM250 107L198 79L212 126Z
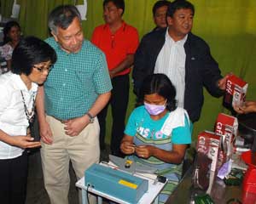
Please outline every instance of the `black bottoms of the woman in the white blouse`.
M14 159L0 160L0 202L24 204L26 201L27 153Z

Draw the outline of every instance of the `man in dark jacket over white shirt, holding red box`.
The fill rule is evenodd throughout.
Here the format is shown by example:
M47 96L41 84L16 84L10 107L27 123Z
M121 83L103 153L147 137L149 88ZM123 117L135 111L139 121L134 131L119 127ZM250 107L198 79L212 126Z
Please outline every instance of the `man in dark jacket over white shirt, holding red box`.
M220 75L207 42L191 33L194 14L188 1L171 3L166 14L168 27L143 37L132 73L136 94L146 76L166 74L177 89L177 105L188 111L192 122L201 114L203 87L212 96L221 96L227 77Z

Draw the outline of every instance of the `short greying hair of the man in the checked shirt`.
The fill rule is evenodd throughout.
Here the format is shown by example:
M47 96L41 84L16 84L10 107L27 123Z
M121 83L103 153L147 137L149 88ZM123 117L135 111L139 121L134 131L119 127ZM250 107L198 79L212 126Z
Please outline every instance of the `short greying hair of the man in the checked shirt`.
M61 5L54 8L50 14L48 19L49 30L53 31L57 34L57 28L61 27L61 29L66 30L68 26L70 26L74 20L74 18L79 18L81 22L81 15L79 13L78 8L73 5Z

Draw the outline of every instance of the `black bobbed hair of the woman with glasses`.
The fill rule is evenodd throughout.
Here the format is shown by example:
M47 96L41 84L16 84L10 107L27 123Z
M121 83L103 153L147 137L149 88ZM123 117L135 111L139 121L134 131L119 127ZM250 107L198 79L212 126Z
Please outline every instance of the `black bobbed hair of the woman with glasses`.
M54 48L38 37L24 37L14 49L11 71L15 74L30 75L33 65L50 61L54 64L57 59Z

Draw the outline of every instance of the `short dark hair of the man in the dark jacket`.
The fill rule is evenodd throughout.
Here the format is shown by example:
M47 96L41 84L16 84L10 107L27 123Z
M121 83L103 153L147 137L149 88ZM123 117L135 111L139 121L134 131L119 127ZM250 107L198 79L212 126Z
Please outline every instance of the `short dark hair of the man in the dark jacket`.
M176 0L172 3L170 3L168 9L167 9L167 13L166 13L166 17L170 16L173 17L173 14L181 8L185 8L185 9L191 9L193 15L195 14L195 7L192 3L189 3L186 0Z

